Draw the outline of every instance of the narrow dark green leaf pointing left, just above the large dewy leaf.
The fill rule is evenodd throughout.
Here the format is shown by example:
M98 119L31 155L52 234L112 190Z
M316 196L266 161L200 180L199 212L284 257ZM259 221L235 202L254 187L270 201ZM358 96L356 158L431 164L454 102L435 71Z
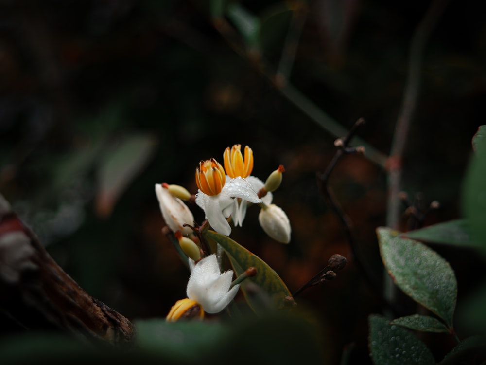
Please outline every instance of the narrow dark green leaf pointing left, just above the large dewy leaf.
M402 237L424 242L473 247L474 242L469 230L469 222L466 219L456 219L406 232L402 234Z

